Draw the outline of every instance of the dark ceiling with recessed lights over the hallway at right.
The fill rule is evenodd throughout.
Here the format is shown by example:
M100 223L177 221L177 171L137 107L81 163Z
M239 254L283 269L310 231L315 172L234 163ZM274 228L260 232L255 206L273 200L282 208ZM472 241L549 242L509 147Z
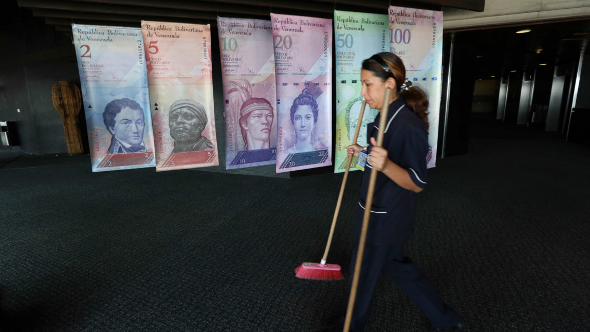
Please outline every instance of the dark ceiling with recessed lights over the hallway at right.
M522 29L531 31L516 34ZM455 38L456 43L473 48L479 78L500 77L513 70L533 70L539 64L573 63L590 40L590 19L459 31Z

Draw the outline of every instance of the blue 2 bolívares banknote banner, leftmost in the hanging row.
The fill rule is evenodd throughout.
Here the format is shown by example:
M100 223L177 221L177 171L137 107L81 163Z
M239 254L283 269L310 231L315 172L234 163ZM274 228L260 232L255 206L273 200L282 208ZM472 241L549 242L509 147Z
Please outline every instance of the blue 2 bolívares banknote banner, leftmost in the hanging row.
M72 24L92 171L155 166L139 28Z

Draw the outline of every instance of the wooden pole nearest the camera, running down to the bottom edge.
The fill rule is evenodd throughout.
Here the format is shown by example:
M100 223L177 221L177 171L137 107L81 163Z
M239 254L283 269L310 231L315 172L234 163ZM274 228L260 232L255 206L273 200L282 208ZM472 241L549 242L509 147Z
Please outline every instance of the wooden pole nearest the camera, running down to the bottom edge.
M377 145L383 145L383 134L385 133L385 124L387 123L387 111L389 109L389 94L391 89L385 90L385 101L381 109L381 119L379 120L379 133L377 134ZM356 290L359 287L360 264L363 261L365 252L365 242L367 238L367 229L369 228L369 218L371 217L371 205L373 204L373 193L375 192L375 180L377 179L377 170L371 168L371 177L369 177L369 189L367 190L367 199L365 202L365 214L363 214L363 226L360 229L359 249L356 252L355 275L352 278L352 287L350 287L350 297L348 299L348 308L346 309L346 320L344 321L344 332L350 330L350 321L352 320L352 309L355 307Z

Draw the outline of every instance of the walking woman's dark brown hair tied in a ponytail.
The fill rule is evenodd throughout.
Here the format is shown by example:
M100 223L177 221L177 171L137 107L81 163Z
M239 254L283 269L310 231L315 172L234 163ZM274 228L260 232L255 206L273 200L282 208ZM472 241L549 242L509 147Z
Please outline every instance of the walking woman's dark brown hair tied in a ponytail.
M375 58L375 55L378 57ZM398 95L404 98L404 103L408 109L414 111L424 121L426 130L428 130L428 98L424 91L414 86L409 87L407 90L401 89L406 77L405 65L397 55L390 52L381 52L375 55L363 60L362 69L371 71L373 75L379 77L383 82L389 77L393 77L395 86L398 89ZM382 64L379 63L379 58L389 67L389 71L385 70Z

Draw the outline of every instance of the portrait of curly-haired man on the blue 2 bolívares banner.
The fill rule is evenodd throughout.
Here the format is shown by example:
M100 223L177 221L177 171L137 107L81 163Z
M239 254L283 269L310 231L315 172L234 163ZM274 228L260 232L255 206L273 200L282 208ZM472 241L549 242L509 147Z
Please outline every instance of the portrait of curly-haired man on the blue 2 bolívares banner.
M103 112L104 126L113 135L107 153L145 152L143 109L135 100L121 98L110 101Z

